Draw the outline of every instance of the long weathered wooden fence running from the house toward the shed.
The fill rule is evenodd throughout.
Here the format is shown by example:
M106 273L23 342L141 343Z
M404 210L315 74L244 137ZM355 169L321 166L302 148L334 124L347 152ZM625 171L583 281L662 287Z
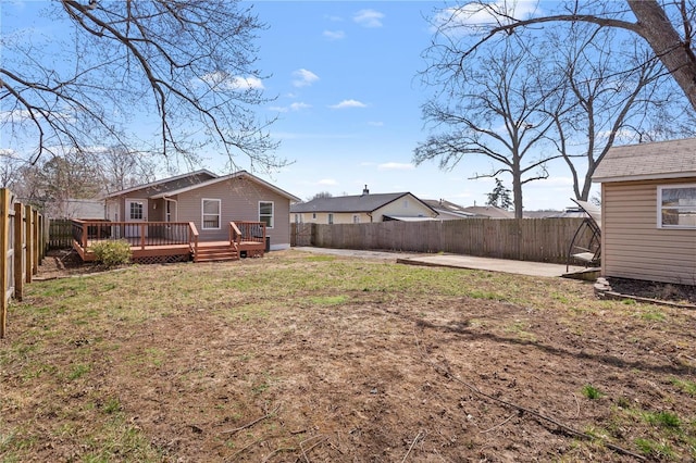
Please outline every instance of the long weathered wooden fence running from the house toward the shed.
M533 262L567 262L582 218L465 218L371 224L293 224L293 246L450 252Z

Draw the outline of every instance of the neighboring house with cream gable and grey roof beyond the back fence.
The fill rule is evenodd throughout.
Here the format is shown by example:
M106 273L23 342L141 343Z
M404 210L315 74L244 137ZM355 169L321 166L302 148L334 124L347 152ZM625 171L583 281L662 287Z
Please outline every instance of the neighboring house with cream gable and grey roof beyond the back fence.
M290 207L295 223L362 224L386 221L431 221L437 212L410 192L316 198Z

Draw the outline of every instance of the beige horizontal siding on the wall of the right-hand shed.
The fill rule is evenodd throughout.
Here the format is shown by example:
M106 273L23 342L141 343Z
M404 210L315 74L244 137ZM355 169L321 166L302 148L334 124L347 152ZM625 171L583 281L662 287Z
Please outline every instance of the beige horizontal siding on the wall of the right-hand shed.
M696 285L696 229L658 228L657 218L657 187L693 182L601 185L604 275Z

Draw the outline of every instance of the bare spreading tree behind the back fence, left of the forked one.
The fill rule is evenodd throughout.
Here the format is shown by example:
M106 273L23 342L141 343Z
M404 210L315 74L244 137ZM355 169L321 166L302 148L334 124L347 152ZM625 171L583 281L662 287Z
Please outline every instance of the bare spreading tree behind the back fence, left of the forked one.
M456 47L430 49L433 65L424 78L443 90L423 105L423 117L445 130L420 143L413 160L418 165L438 159L440 168L453 168L469 155L488 158L495 165L492 172L474 177L509 174L514 214L522 218L523 185L547 178L546 163L559 157L543 152L554 126L545 108L544 70L511 41L488 51L464 68L457 61Z

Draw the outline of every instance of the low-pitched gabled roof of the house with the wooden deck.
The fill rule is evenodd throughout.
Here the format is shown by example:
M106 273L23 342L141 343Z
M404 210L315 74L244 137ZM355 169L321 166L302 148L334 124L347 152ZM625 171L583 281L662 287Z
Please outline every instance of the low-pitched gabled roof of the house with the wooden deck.
M247 171L235 172L234 174L217 176L210 171L201 170L196 172L190 172L188 174L177 175L174 177L163 178L161 180L152 182L146 185L138 185L133 188L128 188L121 191L115 191L105 197L115 198L122 195L126 195L132 191L138 191L142 189L150 189L151 191L148 195L150 199L161 199L175 195L181 195L186 191L195 190L197 188L202 188L209 185L216 184L219 182L228 180L232 178L248 178L276 193L289 199L290 201L300 201L298 197L295 195L290 195L289 192L272 185L256 175L249 174Z

